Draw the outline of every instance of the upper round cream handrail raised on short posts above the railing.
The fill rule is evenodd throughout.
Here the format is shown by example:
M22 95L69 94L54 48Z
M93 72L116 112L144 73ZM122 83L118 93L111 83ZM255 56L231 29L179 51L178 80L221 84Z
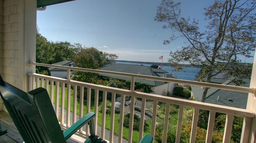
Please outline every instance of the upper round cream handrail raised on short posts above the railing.
M198 81L190 81L190 80L182 80L182 79L172 79L172 78L156 77L156 76L133 74L133 73L103 71L103 70L85 69L85 68L77 68L77 67L51 65L51 64L42 64L42 63L35 63L32 61L28 61L27 65L28 66L36 65L36 66L43 66L43 67L67 69L68 71L74 70L74 71L86 71L86 72L93 72L93 73L100 73L100 74L110 74L110 75L130 77L132 79L140 78L140 79L155 80L155 81L162 81L162 82L169 82L169 83L193 85L193 86L199 86L199 87L210 87L210 88L216 88L216 89L239 91L239 92L246 92L246 93L253 93L253 94L256 93L256 88L249 88L249 87L239 87L239 86L214 84L214 83L206 83L206 82L198 82ZM131 85L131 88L132 88L132 85Z

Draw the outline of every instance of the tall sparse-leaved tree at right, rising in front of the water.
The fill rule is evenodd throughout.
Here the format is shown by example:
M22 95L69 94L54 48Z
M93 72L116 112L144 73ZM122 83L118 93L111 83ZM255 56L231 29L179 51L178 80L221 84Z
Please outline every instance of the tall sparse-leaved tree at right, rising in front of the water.
M164 22L163 28L172 29L179 35L172 35L163 44L183 38L188 43L182 50L170 52L169 62L176 70L181 70L181 63L188 62L199 66L197 81L210 82L211 77L226 73L235 78L237 85L243 83L243 76L250 76L251 66L241 64L238 56L251 57L255 50L256 14L255 0L215 0L205 8L205 31L200 31L195 19L181 16L181 3L162 0L157 8L156 21ZM203 92L205 100L209 88Z

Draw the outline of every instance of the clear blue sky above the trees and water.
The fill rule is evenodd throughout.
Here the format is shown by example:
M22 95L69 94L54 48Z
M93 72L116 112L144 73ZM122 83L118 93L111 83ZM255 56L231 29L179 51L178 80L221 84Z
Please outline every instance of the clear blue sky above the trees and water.
M116 54L118 60L167 62L170 51L185 46L183 39L163 45L170 29L154 21L160 0L76 0L48 6L37 11L39 32L50 41L68 41ZM200 27L204 21L203 8L209 0L182 0L184 17L196 18ZM245 58L241 57L244 62ZM252 62L253 59L246 59Z

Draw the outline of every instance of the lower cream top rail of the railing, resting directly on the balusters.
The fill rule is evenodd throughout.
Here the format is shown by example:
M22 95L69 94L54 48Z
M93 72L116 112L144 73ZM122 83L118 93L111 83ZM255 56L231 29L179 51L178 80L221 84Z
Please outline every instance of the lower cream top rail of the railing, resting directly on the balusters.
M215 111L215 112L219 112L219 113L242 116L242 117L247 117L247 118L253 118L255 116L255 114L252 111L246 110L246 109L228 107L228 106L223 106L223 105L216 105L216 104L211 104L211 103L202 103L202 102L197 102L197 101L191 101L191 100L185 100L185 99L180 99L180 98L132 91L132 90L127 90L127 89L115 88L115 87L107 87L107 86L85 83L85 82L80 82L80 81L75 81L75 80L67 81L64 78L58 78L58 77L42 75L42 74L37 74L37 73L27 73L27 74L28 74L28 76L32 76L32 77L36 77L36 78L44 78L44 79L48 79L48 80L53 80L57 83L65 83L65 84L71 84L71 85L76 85L76 86L80 86L80 87L98 89L98 90L105 91L105 92L107 92L107 91L114 92L114 93L121 94L121 95L129 95L129 96L133 96L133 97L137 97L137 98L145 98L148 100L153 100L153 101L158 101L158 102L163 102L163 103L171 103L171 104L176 104L176 105L193 107L193 108L208 110L208 111ZM81 101L83 101L83 100L81 100ZM81 103L80 103L80 105L81 105Z

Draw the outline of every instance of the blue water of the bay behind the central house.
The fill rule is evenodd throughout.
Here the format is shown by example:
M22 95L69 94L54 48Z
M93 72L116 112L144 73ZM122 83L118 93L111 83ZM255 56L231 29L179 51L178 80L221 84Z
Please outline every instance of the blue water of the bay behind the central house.
M118 64L151 66L151 64L141 64L141 63L129 63L129 62L117 62L117 63ZM196 74L200 71L200 68L184 68L181 71L173 71L174 69L171 67L162 66L162 70L168 71L169 73L176 75L178 79L195 80Z

